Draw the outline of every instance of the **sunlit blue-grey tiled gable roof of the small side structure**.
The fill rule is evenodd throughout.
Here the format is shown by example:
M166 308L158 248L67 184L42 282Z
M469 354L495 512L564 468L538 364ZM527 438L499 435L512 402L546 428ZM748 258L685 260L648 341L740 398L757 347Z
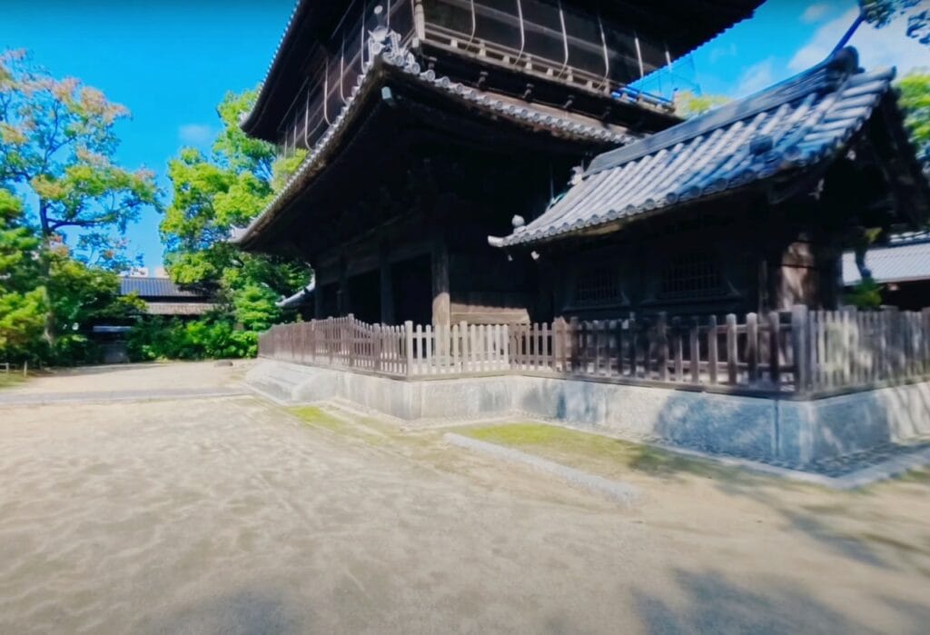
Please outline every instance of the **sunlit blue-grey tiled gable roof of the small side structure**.
M491 245L621 224L829 160L869 118L894 69L857 73L844 48L804 73L596 157L542 216Z

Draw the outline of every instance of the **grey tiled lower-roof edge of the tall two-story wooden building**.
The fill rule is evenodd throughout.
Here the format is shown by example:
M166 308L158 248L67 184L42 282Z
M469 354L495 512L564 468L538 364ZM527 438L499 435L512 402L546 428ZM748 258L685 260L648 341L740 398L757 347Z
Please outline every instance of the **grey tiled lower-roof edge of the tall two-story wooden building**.
M317 173L318 168L325 165L326 157L333 151L336 141L361 109L365 95L379 86L375 79L382 76L381 72L402 73L421 86L431 87L453 99L469 102L495 117L509 119L531 128L546 129L555 137L615 144L630 143L636 140L635 137L616 129L581 121L578 117L567 114L546 112L528 103L513 103L507 99L498 98L492 93L485 93L471 86L453 82L448 77L437 77L432 70L422 71L414 56L400 46L399 42L400 38L397 33L387 33L383 42L369 41L368 46L372 52L373 61L365 68L365 72L358 76L356 85L352 87L352 92L339 115L307 153L297 171L287 180L285 187L278 192L259 217L252 220L245 229L233 229L230 238L234 243L247 242L258 232L259 228L268 223L303 189Z

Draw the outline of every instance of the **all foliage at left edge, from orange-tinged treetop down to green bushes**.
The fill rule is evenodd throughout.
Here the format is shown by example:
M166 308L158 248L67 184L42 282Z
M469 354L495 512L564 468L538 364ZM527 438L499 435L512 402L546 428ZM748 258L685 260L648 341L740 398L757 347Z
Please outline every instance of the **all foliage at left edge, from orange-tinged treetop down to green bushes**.
M157 204L152 172L113 163L128 111L74 78L57 79L20 50L0 52L0 186L35 200L34 226L0 190L0 357L96 361L95 321L126 318L120 298L128 223ZM77 232L69 247L64 232Z

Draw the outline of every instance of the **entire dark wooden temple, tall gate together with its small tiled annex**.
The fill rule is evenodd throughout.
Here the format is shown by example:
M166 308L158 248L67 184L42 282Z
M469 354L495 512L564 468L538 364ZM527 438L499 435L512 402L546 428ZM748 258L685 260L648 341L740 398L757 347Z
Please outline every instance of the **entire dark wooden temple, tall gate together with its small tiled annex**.
M242 126L307 155L233 239L312 267L307 317L835 308L857 232L925 218L894 72L843 49L687 122L629 86L759 4L299 2Z

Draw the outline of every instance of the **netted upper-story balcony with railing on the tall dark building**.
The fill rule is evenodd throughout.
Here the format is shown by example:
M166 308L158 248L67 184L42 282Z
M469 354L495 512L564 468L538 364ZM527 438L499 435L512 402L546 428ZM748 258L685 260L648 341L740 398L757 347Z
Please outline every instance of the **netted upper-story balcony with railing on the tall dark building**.
M618 97L671 63L666 46L569 0L355 0L328 41L312 52L307 78L279 129L281 151L309 149L352 93L369 60L367 37L382 20L402 36L452 55ZM667 103L638 91L626 99Z

